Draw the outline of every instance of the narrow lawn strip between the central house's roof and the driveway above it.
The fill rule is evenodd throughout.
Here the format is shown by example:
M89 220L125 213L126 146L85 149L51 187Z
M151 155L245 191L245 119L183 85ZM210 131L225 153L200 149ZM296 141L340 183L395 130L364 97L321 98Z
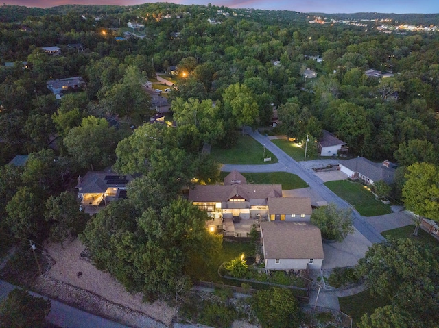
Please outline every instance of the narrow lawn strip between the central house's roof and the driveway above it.
M222 172L220 178L223 180L228 172ZM270 173L241 173L246 177L249 184L281 184L282 190L307 188L307 183L295 174L288 172Z

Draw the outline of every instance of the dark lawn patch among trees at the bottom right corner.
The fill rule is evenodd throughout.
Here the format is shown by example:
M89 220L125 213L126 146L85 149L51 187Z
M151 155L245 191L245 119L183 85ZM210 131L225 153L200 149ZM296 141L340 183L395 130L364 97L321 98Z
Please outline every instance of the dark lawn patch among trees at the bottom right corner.
M369 290L364 290L364 292L353 296L339 297L338 301L340 303L340 310L353 319L352 327L357 327L357 323L359 323L363 314L372 314L377 307L388 305L385 299L375 296L372 297Z

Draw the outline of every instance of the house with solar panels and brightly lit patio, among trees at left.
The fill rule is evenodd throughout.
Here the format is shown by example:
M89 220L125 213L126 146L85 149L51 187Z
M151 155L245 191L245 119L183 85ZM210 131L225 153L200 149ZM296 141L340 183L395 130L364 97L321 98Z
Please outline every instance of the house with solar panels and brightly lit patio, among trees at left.
M126 198L130 181L131 175L118 175L110 170L89 171L84 177L78 177L75 188L78 189L78 197L81 199L80 210L94 214L102 206L108 205L108 202Z

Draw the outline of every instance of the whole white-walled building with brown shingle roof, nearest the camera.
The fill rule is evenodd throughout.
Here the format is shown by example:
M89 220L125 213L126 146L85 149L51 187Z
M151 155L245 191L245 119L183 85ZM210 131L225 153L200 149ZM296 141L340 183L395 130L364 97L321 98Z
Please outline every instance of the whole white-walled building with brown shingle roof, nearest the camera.
M319 270L323 262L320 229L305 222L261 222L265 270Z

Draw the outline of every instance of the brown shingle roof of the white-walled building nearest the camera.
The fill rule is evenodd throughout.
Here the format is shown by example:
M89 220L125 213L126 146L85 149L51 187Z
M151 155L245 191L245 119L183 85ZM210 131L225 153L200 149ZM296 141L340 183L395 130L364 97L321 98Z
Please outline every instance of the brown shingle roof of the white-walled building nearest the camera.
M271 259L322 259L320 229L305 222L261 222L265 255Z

